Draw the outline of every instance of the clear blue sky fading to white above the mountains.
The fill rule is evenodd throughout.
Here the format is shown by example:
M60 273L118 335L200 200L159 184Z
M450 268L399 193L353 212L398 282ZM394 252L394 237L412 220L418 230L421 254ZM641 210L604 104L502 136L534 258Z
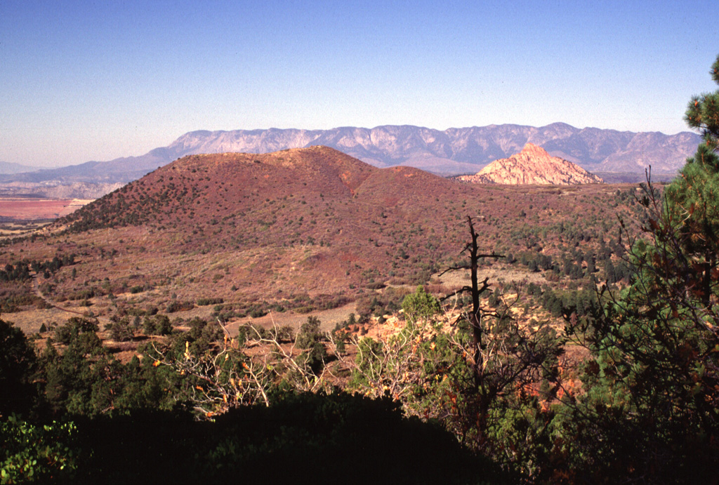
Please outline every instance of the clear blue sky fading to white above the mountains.
M0 0L0 160L187 131L564 121L684 131L717 1Z

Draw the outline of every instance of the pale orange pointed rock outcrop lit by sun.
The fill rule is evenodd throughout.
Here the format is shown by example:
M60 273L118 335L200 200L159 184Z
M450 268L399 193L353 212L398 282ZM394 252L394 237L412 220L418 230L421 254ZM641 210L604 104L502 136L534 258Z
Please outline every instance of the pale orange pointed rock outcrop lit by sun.
M531 143L526 144L518 154L495 160L476 175L464 175L459 177L459 180L513 185L574 185L604 182L579 165L559 157L551 157L544 148Z

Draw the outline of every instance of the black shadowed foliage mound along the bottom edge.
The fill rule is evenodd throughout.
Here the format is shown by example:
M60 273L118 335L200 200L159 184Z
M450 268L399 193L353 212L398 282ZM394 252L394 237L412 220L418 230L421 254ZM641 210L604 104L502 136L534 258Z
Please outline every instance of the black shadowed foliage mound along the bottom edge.
M403 417L391 399L288 394L214 421L189 412L73 418L60 443L72 466L42 481L157 483L510 483L439 425ZM40 427L38 427L40 428ZM4 430L3 440L7 443ZM63 440L63 436L54 436ZM57 443L57 442L56 442ZM9 453L2 448L4 460ZM37 465L36 465L37 466Z

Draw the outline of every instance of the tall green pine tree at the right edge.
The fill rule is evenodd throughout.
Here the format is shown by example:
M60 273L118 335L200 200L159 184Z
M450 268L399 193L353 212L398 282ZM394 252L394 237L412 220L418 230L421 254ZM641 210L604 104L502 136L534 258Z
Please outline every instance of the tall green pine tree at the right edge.
M719 57L712 75L719 83ZM580 412L596 426L578 428L572 445L587 446L580 454L595 462L581 466L604 476L701 483L719 468L718 101L719 91L690 101L685 119L702 143L663 197L644 187L630 284L605 294L581 332L592 361Z

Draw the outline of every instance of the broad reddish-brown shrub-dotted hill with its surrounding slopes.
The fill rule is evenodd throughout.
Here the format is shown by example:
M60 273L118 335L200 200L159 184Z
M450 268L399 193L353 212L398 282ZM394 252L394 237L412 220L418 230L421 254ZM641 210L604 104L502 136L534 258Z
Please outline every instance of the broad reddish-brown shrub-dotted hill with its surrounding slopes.
M361 300L368 308L378 288L416 287L464 264L467 216L482 251L507 256L482 262L493 285L577 288L580 280L531 272L521 258L543 254L564 264L577 251L613 251L618 216L631 226L638 213L635 192L633 185L463 184L409 167L380 170L322 147L193 155L6 244L0 267L74 254L75 264L40 275L43 294L101 318L131 310L212 318L214 304L196 308L201 315L168 308L216 299L231 323L255 322L249 315L261 309L296 328L308 312L331 308L341 314L321 320L334 326L363 313L344 307ZM430 291L468 282L446 277ZM269 315L257 320L271 325Z

